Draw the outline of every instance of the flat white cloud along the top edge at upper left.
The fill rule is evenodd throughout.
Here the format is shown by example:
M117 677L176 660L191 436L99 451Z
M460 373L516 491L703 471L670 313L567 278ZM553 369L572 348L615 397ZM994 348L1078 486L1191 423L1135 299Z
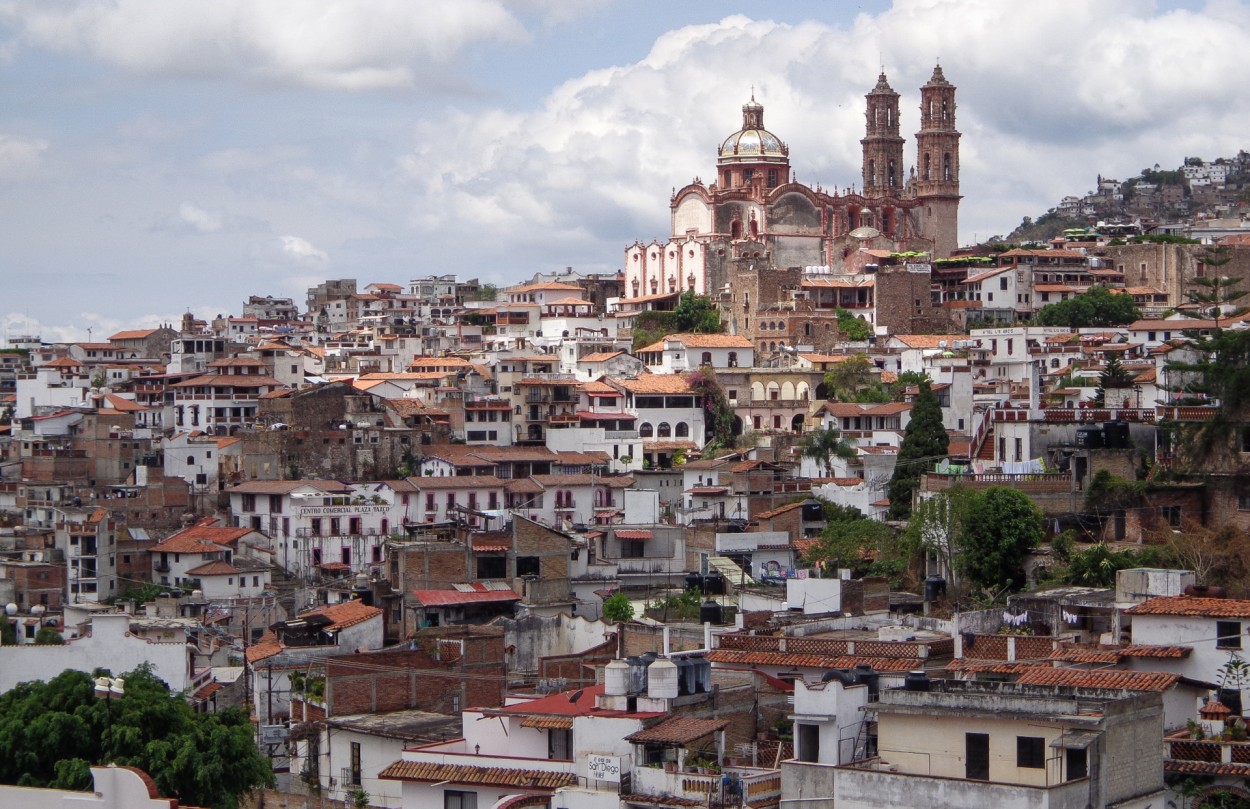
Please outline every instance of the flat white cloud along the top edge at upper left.
M339 90L409 86L470 45L526 36L500 0L78 0L6 3L0 15L30 44L135 73Z

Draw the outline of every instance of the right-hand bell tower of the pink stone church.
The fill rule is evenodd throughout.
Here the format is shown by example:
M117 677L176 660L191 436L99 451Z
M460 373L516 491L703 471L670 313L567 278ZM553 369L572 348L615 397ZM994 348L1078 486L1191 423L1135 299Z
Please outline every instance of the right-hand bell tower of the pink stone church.
M920 131L916 133L916 199L920 231L934 241L934 258L959 246L959 130L955 129L955 85L941 65L920 88Z

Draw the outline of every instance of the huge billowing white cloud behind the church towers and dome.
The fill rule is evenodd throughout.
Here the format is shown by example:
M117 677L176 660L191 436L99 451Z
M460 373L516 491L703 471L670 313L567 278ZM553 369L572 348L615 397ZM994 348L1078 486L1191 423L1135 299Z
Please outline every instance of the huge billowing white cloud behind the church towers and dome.
M1135 160L1235 154L1250 110L1231 103L1228 76L1250 46L1246 16L1231 4L1199 14L1131 0L898 0L845 28L745 16L685 26L634 64L566 81L539 109L420 126L401 161L419 191L412 221L488 228L512 245L606 248L601 259L615 263L625 240L666 233L674 186L714 178L715 148L752 86L798 179L845 189L861 184L864 95L881 61L902 96L910 164L919 88L940 60L959 86L971 241L1084 191L1098 173L1136 174ZM1021 50L1025 33L1035 48Z

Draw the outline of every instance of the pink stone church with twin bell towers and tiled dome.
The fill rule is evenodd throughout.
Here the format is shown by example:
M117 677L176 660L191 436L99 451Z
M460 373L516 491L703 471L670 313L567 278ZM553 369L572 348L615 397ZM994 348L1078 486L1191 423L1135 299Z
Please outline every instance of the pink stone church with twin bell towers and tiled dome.
M906 311L892 311L901 318L895 324L875 315L881 293L876 288L885 279L865 273L875 273L880 259L891 254L938 259L958 246L955 86L938 66L920 89L916 159L906 174L899 94L884 73L866 101L860 190L830 193L794 180L790 149L766 129L764 105L752 94L742 105L741 129L718 149L716 181L696 179L672 195L668 241L626 248L621 305L664 309L668 299L689 289L718 300L731 331L748 336L760 330L751 328L752 314L786 304L792 310L795 301L816 310L848 309L891 331L935 328L928 273L922 281L918 276L895 284L906 288L895 296L908 301ZM928 265L909 266L915 274ZM814 336L810 325L806 331L785 335L788 344L826 343L801 340ZM760 345L768 351L786 344L781 336Z

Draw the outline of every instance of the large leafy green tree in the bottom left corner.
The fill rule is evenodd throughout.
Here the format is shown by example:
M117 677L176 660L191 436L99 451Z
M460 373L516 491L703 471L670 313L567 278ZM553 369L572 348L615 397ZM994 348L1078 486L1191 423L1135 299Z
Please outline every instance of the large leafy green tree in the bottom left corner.
M114 761L146 771L161 795L214 809L272 784L244 710L198 714L149 666L124 679L114 700L96 699L91 675L69 670L0 695L0 783L88 789L89 768Z

